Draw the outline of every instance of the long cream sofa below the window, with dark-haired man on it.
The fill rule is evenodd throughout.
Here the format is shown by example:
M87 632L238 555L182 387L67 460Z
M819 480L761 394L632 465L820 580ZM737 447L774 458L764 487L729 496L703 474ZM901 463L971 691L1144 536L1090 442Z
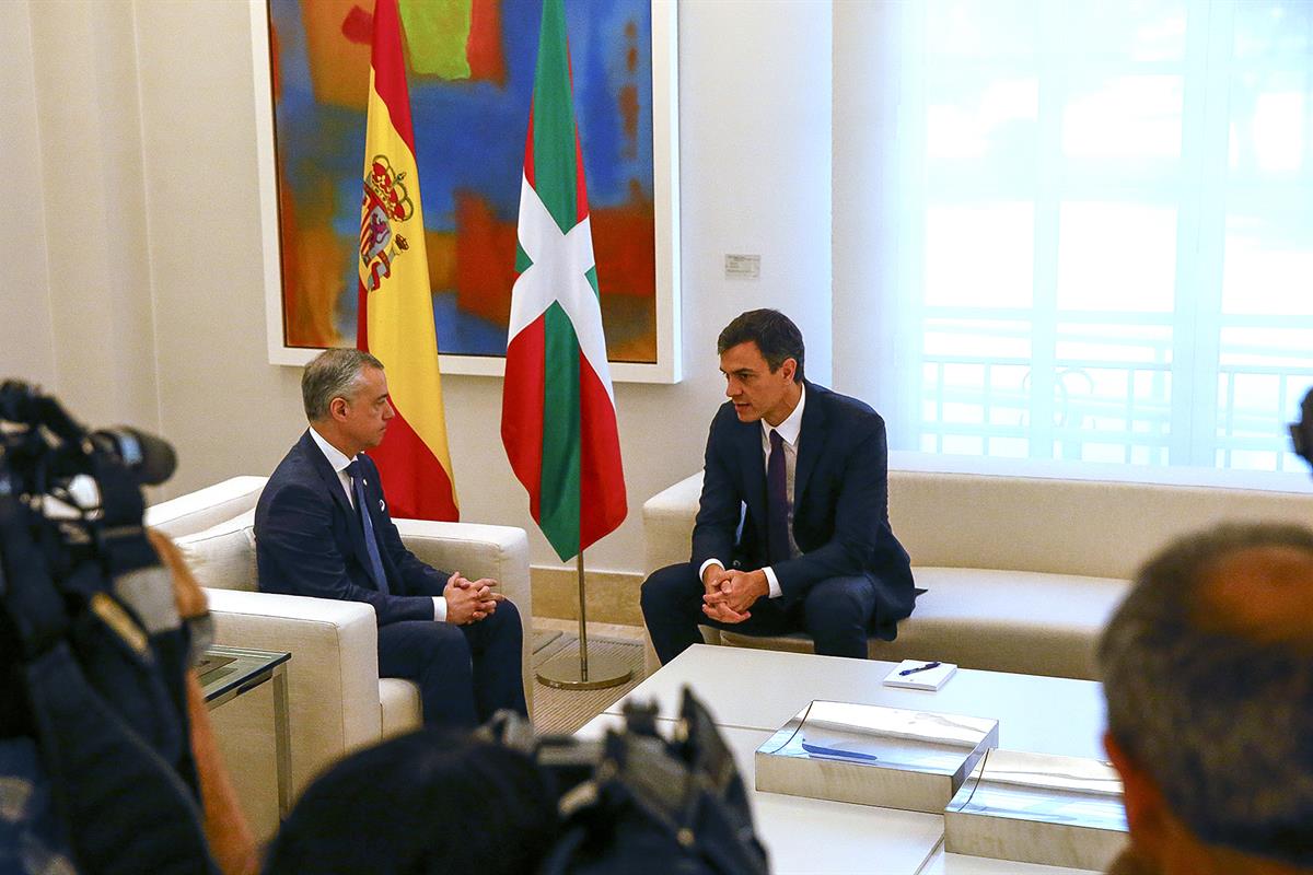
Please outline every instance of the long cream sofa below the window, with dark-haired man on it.
M958 462L960 463L960 462ZM978 462L977 462L978 464ZM927 589L872 659L1096 680L1095 643L1138 565L1171 538L1224 519L1313 525L1300 475L1208 472L1207 487L1091 479L1060 463L956 474L953 460L890 454L889 517ZM1167 474L1163 476L1176 476ZM1246 488L1267 480L1275 489ZM646 572L689 558L701 472L643 504ZM810 651L805 635L704 628L710 643ZM655 655L649 647L649 668Z

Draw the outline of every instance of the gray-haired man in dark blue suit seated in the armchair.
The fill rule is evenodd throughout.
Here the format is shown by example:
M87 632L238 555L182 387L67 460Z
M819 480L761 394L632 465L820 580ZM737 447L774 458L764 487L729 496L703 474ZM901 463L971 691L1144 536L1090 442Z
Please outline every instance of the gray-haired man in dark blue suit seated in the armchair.
M306 366L301 394L310 428L256 505L260 589L373 605L378 670L419 683L427 725L473 727L498 708L527 714L515 605L494 580L421 563L387 513L364 454L394 416L382 363L324 350Z

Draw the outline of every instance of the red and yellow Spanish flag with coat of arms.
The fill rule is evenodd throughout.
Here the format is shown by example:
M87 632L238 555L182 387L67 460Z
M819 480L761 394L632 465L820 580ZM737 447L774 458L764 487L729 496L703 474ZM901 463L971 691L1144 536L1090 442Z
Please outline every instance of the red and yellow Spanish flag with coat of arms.
M397 0L374 7L358 295L356 345L383 363L397 409L370 453L391 516L458 519Z

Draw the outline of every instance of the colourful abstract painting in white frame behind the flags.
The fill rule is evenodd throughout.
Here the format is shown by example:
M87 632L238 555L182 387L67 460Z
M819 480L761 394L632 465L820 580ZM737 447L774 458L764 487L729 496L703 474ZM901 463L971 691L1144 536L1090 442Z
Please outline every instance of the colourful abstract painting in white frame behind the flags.
M267 68L256 89L267 85L272 110L273 155L263 161L273 177L267 207L276 206L276 224L265 216L267 249L273 231L278 256L276 283L267 269L277 298L268 308L270 357L293 363L356 340L373 3L252 3L253 28L263 16L265 29L256 43L268 41L256 56L257 72ZM663 63L674 55L660 43L654 52L653 25L655 9L659 39L672 41L664 26L672 7L565 5L608 358L617 379L670 382L678 272L666 152L675 113L654 101L674 102L674 64ZM500 373L541 0L399 0L399 8L442 369Z

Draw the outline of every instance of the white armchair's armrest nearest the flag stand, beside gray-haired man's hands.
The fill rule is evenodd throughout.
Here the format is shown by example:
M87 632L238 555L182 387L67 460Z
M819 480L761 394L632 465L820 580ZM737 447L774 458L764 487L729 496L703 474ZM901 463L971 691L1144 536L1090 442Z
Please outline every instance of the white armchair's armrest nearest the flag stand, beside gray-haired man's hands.
M420 561L470 579L492 577L503 596L515 602L524 624L521 677L524 698L533 707L533 593L529 588L529 538L524 529L474 522L394 519L406 547Z

